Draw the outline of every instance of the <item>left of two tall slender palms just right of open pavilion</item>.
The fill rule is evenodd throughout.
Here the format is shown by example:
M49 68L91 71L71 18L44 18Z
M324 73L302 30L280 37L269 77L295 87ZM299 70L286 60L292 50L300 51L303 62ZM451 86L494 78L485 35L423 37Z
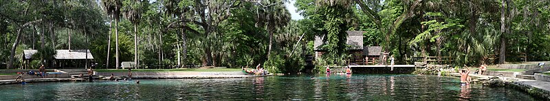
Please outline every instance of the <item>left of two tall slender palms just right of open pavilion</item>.
M122 1L120 0L102 0L103 8L107 10L107 14L111 15L111 18L115 19L115 57L116 57L116 69L118 69L118 20L120 20L120 8L122 7ZM109 36L111 37L111 36ZM110 45L109 45L110 46ZM109 59L109 57L107 57ZM108 61L107 61L108 62Z

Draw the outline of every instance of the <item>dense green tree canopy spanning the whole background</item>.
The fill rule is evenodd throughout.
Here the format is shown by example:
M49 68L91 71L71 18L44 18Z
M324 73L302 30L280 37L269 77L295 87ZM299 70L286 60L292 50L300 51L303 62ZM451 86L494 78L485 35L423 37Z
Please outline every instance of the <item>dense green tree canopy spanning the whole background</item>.
M426 56L452 57L456 65L550 60L550 1L296 0L300 20L291 20L287 3L4 0L0 57L7 58L0 63L21 68L23 50L33 49L39 54L31 66L54 66L55 50L70 48L89 49L97 68L261 63L271 72L311 72L305 60L316 54L316 36L327 38L321 48L328 54L314 63L345 65L346 31L363 31L364 46L382 46L399 63Z

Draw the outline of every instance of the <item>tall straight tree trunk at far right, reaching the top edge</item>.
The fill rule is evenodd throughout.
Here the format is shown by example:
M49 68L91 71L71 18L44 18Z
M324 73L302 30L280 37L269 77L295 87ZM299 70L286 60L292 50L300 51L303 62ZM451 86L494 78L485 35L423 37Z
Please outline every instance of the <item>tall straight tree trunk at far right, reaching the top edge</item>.
M500 8L500 55L498 56L498 63L503 64L506 60L506 22L505 22L505 2L503 0L502 7Z

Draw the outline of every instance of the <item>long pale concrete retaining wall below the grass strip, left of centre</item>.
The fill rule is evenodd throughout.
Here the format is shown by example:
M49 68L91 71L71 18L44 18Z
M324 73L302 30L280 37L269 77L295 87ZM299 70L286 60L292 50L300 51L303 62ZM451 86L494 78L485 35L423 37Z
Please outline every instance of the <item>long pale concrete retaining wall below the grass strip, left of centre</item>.
M127 76L128 72L96 72L99 76ZM132 72L132 76L168 76L168 75L245 75L243 72Z

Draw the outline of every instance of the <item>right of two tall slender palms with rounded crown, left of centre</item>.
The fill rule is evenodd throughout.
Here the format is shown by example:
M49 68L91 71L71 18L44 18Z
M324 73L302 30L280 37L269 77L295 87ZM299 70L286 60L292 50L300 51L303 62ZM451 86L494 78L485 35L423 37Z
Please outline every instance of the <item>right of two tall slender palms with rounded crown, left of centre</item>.
M135 65L139 64L137 61L137 25L140 24L140 18L142 14L142 3L140 0L124 1L124 7L122 8L124 17L128 18L133 24L133 42L134 42L134 58Z

